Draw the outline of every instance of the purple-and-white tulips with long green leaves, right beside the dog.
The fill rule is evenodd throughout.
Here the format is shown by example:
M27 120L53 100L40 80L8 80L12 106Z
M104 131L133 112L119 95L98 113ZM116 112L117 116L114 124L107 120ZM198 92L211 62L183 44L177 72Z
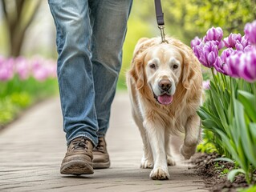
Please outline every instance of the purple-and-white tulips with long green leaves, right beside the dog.
M223 38L221 28L213 27L191 46L213 77L198 110L204 143L225 157L217 160L234 163L227 175L231 182L243 174L250 184L256 179L256 21L244 31Z

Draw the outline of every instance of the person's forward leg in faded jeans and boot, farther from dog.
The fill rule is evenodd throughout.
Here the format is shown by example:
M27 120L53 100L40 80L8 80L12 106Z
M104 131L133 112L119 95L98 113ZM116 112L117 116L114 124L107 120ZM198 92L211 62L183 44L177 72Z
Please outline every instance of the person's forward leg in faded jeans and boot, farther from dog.
M63 130L69 146L61 172L91 174L92 167L87 166L92 158L91 142L94 146L98 143L98 122L89 49L88 3L84 0L49 0L49 5L57 30L59 93Z

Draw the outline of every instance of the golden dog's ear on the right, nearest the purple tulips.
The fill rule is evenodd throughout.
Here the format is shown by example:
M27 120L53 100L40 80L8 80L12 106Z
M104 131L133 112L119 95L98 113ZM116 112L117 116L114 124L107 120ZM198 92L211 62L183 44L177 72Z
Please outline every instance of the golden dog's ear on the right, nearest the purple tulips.
M190 85L193 82L195 71L193 70L193 62L198 62L194 57L192 51L188 48L182 50L183 52L183 71L182 71L182 85L185 89L189 90Z

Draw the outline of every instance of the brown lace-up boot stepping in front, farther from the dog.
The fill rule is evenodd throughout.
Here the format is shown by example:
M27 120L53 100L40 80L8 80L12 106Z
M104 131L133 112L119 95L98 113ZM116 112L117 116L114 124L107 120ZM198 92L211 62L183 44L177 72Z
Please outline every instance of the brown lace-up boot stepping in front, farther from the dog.
M67 147L60 166L61 174L93 174L92 143L84 137L75 138Z

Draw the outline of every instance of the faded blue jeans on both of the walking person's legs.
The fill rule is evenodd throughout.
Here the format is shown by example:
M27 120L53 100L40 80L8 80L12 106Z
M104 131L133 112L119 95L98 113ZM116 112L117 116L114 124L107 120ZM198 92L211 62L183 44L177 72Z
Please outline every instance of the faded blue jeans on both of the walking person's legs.
M55 20L67 145L108 130L132 0L48 0Z

